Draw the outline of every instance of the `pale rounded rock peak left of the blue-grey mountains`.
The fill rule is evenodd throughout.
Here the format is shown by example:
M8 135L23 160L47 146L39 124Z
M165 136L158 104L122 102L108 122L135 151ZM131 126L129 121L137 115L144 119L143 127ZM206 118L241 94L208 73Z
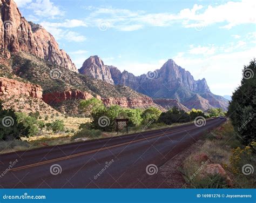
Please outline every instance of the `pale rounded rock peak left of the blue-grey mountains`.
M114 84L110 70L104 65L102 59L98 56L91 56L86 59L79 73L89 77L103 80L106 83Z

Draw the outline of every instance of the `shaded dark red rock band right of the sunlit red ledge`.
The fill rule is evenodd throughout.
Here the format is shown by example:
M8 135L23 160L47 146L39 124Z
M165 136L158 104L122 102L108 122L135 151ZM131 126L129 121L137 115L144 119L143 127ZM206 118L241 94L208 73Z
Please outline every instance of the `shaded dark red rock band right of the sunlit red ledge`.
M46 104L57 104L62 103L66 100L75 100L75 99L91 99L93 96L85 91L79 91L79 90L71 90L71 91L65 91L65 92L52 92L43 94L43 101Z

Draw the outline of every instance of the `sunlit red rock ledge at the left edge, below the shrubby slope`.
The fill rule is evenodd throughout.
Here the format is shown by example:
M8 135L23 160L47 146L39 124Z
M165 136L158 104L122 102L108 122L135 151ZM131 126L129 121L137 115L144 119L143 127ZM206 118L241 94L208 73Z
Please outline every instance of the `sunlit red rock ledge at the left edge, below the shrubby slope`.
M0 99L19 96L21 94L41 99L43 90L39 85L23 83L15 79L0 77Z

